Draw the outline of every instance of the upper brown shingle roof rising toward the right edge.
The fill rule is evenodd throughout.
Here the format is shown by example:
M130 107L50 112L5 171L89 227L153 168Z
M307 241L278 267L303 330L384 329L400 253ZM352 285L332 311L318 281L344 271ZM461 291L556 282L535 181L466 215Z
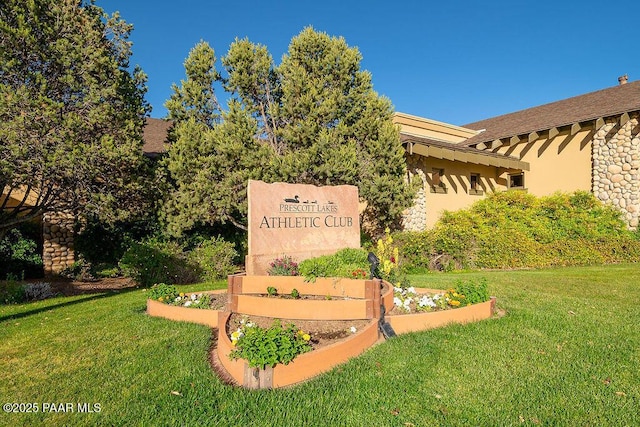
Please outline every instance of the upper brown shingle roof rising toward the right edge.
M470 146L637 110L640 110L640 80L469 123L463 127L486 130L460 144Z

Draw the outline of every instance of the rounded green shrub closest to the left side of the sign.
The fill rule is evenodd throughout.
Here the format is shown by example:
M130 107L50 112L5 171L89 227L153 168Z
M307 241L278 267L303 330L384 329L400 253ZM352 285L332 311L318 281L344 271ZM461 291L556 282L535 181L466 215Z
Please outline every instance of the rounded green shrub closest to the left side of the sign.
M189 253L188 259L198 266L200 280L212 281L225 278L236 271L234 261L237 257L233 243L216 237L201 242Z

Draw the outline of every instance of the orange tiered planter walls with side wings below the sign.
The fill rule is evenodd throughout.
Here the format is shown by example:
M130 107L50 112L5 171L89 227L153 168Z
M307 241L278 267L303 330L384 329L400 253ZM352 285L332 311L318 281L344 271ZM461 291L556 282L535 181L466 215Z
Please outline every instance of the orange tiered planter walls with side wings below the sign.
M268 286L274 286L281 294L291 293L295 288L303 295L330 295L351 299L294 300L257 295L264 294ZM154 317L218 328L218 343L212 351L217 353L221 367L233 381L246 388L277 388L296 384L327 372L362 354L379 341L381 337L378 331L380 305L384 305L386 313L393 309L393 286L387 283L387 291L382 295L379 289L380 281L378 280L318 279L315 283L306 283L302 277L233 275L229 276L226 290L194 292L208 294L227 292L229 301L224 311L177 307L147 300L147 313ZM444 291L417 288L416 292L433 294ZM494 313L495 301L495 298L491 297L490 301L467 307L385 316L385 320L396 334L423 331L451 323L469 323L488 319ZM319 350L302 354L288 365L278 364L273 368L258 370L249 368L244 360L229 359L233 347L227 331L227 322L234 312L293 320L370 319L371 322L352 336Z

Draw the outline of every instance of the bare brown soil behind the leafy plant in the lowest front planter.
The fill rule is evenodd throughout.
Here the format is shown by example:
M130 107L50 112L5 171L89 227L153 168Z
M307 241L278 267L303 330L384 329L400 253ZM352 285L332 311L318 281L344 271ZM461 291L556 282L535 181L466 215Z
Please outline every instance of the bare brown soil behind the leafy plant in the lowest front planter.
M273 317L246 316L234 313L229 318L227 331L235 331L241 325L240 321L249 320L261 328L268 328L273 324ZM311 336L311 345L314 350L333 344L353 335L351 328L356 332L367 326L370 320L298 320L280 319L283 326L293 323L298 329L303 330Z

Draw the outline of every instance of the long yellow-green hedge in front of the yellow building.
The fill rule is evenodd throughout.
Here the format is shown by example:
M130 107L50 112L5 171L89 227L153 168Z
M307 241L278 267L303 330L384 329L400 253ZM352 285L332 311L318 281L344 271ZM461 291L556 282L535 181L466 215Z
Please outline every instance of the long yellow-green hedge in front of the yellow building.
M590 193L490 195L394 242L407 269L541 268L640 260L640 234Z

